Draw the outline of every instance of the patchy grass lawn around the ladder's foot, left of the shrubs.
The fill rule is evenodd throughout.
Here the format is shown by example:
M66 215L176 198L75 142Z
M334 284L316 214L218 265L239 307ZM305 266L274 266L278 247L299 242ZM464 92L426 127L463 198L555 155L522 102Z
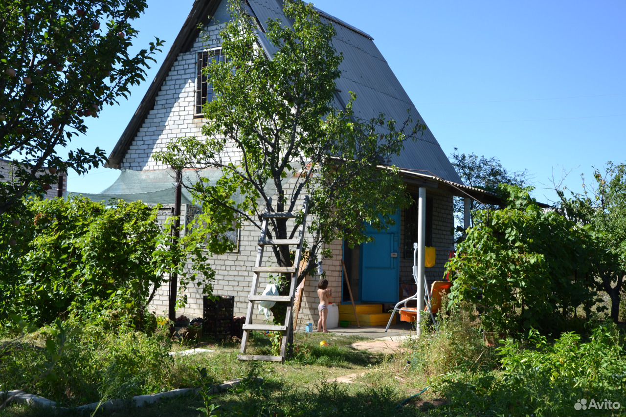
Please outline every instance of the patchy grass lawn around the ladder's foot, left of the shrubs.
M322 340L329 342L329 346L320 346ZM215 413L223 416L395 416L418 413L413 403L398 407L424 386L401 376L403 364L393 356L351 347L352 343L361 340L364 339L356 336L297 333L294 356L285 363L239 361L239 343L234 341L175 344L172 350L192 347L215 350L214 353L178 356L175 361L179 365L176 369L180 372L180 379L198 381L197 368L205 368L207 379L212 381L244 378L240 386L209 399L218 406ZM270 341L263 334L255 334L250 346L251 351L263 353L270 349ZM334 382L337 377L352 374L356 374L353 383ZM198 384L196 382L195 386ZM200 416L203 414L198 408L203 406L203 396L194 394L99 415ZM21 405L0 411L0 417L50 414L51 410Z

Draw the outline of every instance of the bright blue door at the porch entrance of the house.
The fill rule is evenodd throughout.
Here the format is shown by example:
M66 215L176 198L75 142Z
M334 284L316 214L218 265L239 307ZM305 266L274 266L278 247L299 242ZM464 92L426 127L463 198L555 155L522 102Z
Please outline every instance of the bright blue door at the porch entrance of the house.
M367 227L372 242L361 245L361 301L398 302L400 281L400 212L396 224L377 232Z

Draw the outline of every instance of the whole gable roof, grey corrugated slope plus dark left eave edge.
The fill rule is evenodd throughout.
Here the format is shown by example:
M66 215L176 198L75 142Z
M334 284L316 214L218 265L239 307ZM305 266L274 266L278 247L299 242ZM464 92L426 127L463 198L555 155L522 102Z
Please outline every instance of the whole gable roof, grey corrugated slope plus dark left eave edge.
M197 38L200 33L198 24L207 23L207 16L217 9L219 3L220 0L195 0L187 21L172 44L139 108L111 152L106 166L120 168L121 160L135 139L146 115L153 107L155 96L172 68L173 62L178 54L188 49ZM282 0L247 0L247 4L249 11L255 15L261 25L259 43L271 58L277 48L269 43L263 31L267 29L268 19L280 19L285 24L290 24L284 16ZM413 121L424 123L413 102L389 68L389 64L376 48L372 37L334 16L319 9L317 11L324 23L331 23L336 29L336 36L332 43L337 52L344 57L339 67L341 77L337 80L336 105L345 105L350 98L349 91L353 91L357 95L354 112L359 118L367 120L379 113L384 113L387 118L393 118L398 123L402 123L410 114ZM428 128L418 140L405 143L401 155L394 155L391 163L405 170L428 171L445 180L462 183L458 173Z

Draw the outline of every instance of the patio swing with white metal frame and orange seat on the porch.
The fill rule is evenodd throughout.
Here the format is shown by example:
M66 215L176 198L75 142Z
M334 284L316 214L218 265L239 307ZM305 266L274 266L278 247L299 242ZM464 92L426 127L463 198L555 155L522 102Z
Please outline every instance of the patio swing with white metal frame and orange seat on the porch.
M426 248L429 249L426 252L425 263L424 266L431 268L434 266L434 248ZM389 322L387 322L387 327L385 327L385 331L389 330L389 326L391 326L391 322L393 321L394 316L396 315L396 311L400 312L400 320L401 321L416 321L418 316L418 308L417 307L408 307L407 304L409 301L418 300L419 299L419 271L418 271L418 244L413 244L413 279L415 281L416 286L418 286L418 291L414 296L408 297L402 301L399 301L398 304L391 312L391 317L389 317ZM441 293L445 292L449 294L450 288L452 287L452 282L447 280L434 281L431 284L430 291L424 291L424 311L428 311L430 314L431 320L433 321L433 325L435 329L438 329L437 319L435 315L441 308ZM424 274L424 289L428 288L428 282L426 281L426 274ZM403 307L400 307L403 306ZM419 303L418 303L419 306Z

